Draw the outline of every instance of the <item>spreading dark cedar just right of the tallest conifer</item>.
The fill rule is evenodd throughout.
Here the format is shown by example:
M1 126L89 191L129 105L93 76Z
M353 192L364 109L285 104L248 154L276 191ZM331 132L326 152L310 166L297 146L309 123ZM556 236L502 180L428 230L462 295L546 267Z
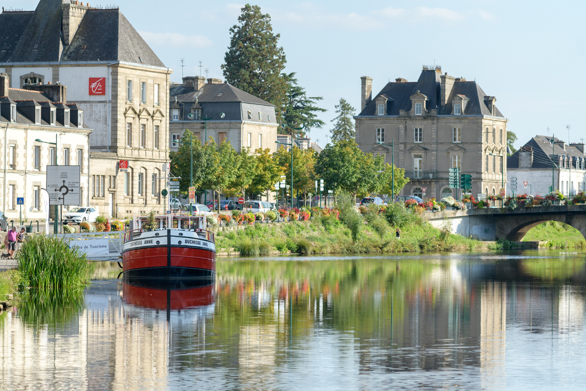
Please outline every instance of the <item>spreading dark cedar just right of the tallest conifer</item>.
M315 104L323 100L321 96L308 97L305 89L299 86L295 72L281 75L287 81L287 98L283 107L282 118L284 123L291 124L295 128L303 127L300 135L305 136L311 128L321 129L325 122L318 120L316 113L325 113L325 108L317 107ZM283 134L290 134L290 128L279 131Z

